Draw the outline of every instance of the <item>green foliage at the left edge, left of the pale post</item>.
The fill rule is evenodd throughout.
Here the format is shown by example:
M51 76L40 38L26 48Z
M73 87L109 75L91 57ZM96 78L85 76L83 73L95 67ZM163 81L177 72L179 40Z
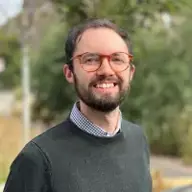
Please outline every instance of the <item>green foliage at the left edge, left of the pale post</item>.
M0 56L6 69L0 74L0 88L11 89L20 83L20 45L14 36L0 32Z

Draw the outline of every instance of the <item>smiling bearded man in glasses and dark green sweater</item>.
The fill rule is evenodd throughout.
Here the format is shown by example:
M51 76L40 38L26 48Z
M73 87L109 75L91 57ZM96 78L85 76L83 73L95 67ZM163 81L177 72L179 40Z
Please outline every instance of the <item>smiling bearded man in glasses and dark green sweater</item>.
M151 192L145 136L119 109L135 72L127 34L90 20L69 32L65 56L79 100L19 153L5 192Z

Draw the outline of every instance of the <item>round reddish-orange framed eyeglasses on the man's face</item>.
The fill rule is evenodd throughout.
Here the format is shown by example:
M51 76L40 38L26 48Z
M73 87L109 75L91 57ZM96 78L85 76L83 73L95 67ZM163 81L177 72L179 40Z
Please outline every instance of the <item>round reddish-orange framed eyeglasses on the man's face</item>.
M85 71L94 72L101 67L104 58L107 58L111 68L115 72L122 72L130 67L133 55L124 52L115 52L110 55L86 52L74 56L71 60L79 59L79 62Z

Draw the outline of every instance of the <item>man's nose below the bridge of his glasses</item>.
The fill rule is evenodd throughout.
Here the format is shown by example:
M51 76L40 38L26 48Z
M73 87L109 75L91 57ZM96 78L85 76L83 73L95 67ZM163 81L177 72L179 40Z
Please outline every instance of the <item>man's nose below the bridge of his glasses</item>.
M103 58L100 68L97 70L97 75L111 76L114 75L114 71L110 66L107 58Z

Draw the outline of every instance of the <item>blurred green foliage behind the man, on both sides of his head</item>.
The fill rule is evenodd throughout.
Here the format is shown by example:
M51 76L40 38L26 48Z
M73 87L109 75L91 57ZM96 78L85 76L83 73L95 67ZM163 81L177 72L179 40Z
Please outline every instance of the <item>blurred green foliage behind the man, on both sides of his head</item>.
M180 14L189 1L53 1L62 13L64 27L56 24L49 30L35 61L34 118L50 122L63 117L75 99L62 74L66 31L86 18L107 17L131 31L134 42L136 75L121 107L125 118L145 127L152 152L191 154L187 146L192 123L188 122L189 116L185 120L182 117L184 109L192 106L192 27L186 19L191 15ZM156 17L162 11L174 13L179 20L185 18L186 22L165 30ZM148 28L144 27L147 20Z

